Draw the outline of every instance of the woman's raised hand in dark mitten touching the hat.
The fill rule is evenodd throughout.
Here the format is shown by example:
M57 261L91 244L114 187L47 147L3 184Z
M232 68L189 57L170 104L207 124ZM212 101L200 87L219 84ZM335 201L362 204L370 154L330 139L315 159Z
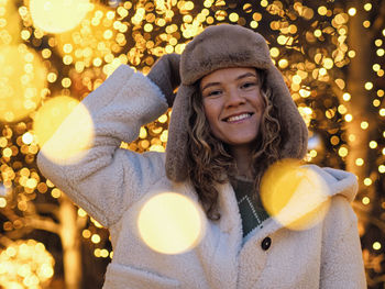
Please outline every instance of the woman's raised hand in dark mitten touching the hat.
M173 107L175 99L174 90L180 85L179 63L179 54L165 54L157 59L147 75L165 95L168 108Z

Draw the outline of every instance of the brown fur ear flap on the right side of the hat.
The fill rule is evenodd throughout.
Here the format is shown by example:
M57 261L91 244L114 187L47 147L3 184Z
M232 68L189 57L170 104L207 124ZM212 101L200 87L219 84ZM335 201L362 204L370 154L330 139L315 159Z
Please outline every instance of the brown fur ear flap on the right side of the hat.
M272 65L266 69L266 86L272 89L271 101L278 110L282 136L282 158L304 158L307 152L308 130L293 101L282 74Z

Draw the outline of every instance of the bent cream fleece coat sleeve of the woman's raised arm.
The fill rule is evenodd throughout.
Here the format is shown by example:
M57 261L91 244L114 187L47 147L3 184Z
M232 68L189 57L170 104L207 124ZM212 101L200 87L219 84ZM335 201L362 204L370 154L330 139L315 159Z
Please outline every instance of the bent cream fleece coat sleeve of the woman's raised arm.
M81 108L86 108L86 113ZM157 86L122 65L66 118L41 148L37 166L46 178L108 227L165 175L164 154L138 154L120 145L122 141L134 141L142 125L166 110ZM91 142L84 141L85 114L90 115L92 123ZM64 152L74 144L81 154L64 157Z

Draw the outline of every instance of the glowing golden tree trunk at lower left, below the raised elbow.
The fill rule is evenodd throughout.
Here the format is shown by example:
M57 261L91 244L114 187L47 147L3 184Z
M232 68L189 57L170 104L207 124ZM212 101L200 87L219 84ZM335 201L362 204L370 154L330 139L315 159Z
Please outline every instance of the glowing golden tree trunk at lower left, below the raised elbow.
M65 194L61 197L59 218L65 288L79 289L81 284L81 252L80 234L76 222L77 210Z

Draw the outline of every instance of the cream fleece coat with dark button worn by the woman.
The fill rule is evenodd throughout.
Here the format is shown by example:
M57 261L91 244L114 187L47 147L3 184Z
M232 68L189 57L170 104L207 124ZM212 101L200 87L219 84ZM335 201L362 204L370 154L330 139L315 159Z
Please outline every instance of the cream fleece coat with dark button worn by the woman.
M92 145L80 162L51 162L44 152L77 142L84 114L75 110L42 148L37 163L44 176L92 218L109 229L113 259L105 289L267 289L365 288L358 220L350 202L355 177L331 168L311 169L329 184L330 208L316 225L301 231L268 219L242 242L242 223L232 187L219 187L220 221L207 220L206 234L191 251L164 255L138 236L136 218L144 196L175 191L197 200L189 184L165 176L163 153L136 154L120 148L140 127L167 109L160 89L129 66L119 67L82 104L95 125ZM69 130L66 126L72 125ZM59 156L58 156L59 157ZM271 246L262 247L270 237ZM266 248L266 247L265 247Z

